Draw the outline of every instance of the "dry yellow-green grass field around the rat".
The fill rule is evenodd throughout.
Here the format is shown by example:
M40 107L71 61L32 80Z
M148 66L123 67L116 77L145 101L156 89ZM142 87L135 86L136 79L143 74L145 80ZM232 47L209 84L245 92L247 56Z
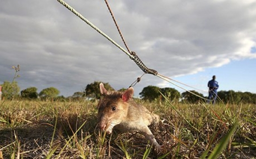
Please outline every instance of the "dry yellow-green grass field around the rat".
M256 158L256 105L138 103L161 116L162 152L137 132L105 136L94 101L0 101L0 159Z

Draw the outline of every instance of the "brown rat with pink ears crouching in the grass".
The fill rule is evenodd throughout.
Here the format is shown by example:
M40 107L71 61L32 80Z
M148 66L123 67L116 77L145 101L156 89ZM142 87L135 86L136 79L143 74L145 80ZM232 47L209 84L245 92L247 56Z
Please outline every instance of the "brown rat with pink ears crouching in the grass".
M99 127L111 133L113 127L117 130L137 130L153 143L157 149L161 146L156 142L152 132L147 127L158 123L159 116L150 113L144 106L137 105L133 100L133 88L125 92L108 92L100 84L103 97L98 104Z

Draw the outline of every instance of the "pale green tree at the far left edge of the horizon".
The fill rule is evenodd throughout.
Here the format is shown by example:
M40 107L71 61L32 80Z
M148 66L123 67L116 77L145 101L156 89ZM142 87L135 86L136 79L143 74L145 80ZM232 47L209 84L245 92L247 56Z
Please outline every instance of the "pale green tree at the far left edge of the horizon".
M2 86L2 97L11 100L19 96L20 87L16 81L10 83L9 81L4 81Z

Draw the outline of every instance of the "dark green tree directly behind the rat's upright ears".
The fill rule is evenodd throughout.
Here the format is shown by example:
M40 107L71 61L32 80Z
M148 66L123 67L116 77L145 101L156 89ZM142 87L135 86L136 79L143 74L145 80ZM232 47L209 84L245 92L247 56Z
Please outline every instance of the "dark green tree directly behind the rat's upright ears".
M85 88L85 95L88 98L96 98L100 99L101 98L101 91L100 91L100 81L94 81L91 84L88 84ZM103 83L103 82L102 82ZM108 91L113 91L114 89L109 85L109 83L103 83L104 87Z

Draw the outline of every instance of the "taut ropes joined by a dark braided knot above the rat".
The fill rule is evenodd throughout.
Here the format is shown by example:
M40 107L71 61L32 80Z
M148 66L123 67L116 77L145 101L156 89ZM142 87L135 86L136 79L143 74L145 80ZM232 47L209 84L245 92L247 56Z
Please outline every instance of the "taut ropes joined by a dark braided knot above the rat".
M111 39L111 38L110 38L108 35L106 35L103 31L101 31L99 28L97 28L95 25L93 25L93 23L89 22L83 15L81 15L80 13L78 13L78 12L77 12L74 8L72 8L69 4L67 4L67 3L64 2L63 0L57 0L57 1L60 2L64 7L66 7L67 9L69 9L73 14L77 15L82 21L84 21L84 22L87 23L89 26L91 26L93 29L95 29L97 32L99 32L102 36L104 36L105 38L107 38L111 43L113 43L114 45L116 45L116 47L119 48L121 51L123 51L126 55L128 55L128 56L136 63L136 65L138 65L138 66L140 67L140 69L144 72L144 74L153 74L153 75L155 75L155 76L157 76L157 77L159 77L159 78L161 78L161 79L163 79L163 80L165 80L165 81L167 81L167 82L173 84L174 86L179 87L179 88L181 88L181 89L183 89L183 90L189 92L190 94L194 94L193 92L191 92L191 91L189 91L189 90L187 90L187 89L185 89L185 88L183 88L183 87L180 87L179 85L175 84L174 82L177 82L177 83L179 83L179 84L181 84L181 85L184 85L184 86L186 86L186 87L191 87L191 86L186 85L186 84L184 84L184 83L182 83L182 82L179 82L179 81L177 81L177 80L171 79L171 78L169 78L169 77L163 76L163 75L159 74L156 70L148 68L148 67L140 60L140 58L138 57L138 55L137 55L134 51L130 51L128 45L126 44L126 42L125 42L125 40L124 40L124 36L122 35L121 30L119 29L119 27L118 27L118 25L117 25L116 19L115 19L115 17L114 17L114 14L113 14L112 11L111 11L111 8L109 7L109 3L108 3L107 0L105 0L106 5L107 5L107 7L108 7L108 9L109 9L109 12L110 12L110 14L111 14L111 16L112 16L112 19L113 19L114 22L115 22L116 28L117 28L117 30L118 30L118 32L119 32L119 35L121 36L121 38L122 38L122 40L123 40L123 42L124 42L124 45L125 45L127 51L124 50L124 48L122 48L119 44L117 44L113 39ZM144 75L144 74L143 74L143 75ZM142 75L142 76L143 76L143 75ZM130 87L133 87L133 86L135 86L138 82L140 82L142 76L141 76L141 77L138 77L138 78L130 85ZM208 91L204 91L204 90L201 90L201 89L198 89L198 88L195 88L195 87L191 87L191 88L194 88L194 89L196 89L196 90L200 90L200 91L202 91L202 92L208 92ZM200 95L198 95L198 94L194 94L194 95L197 96L197 97L199 97L199 98L202 98L202 99L204 99L204 100L207 100L206 98L204 98L204 97L202 97L202 96L200 96Z

